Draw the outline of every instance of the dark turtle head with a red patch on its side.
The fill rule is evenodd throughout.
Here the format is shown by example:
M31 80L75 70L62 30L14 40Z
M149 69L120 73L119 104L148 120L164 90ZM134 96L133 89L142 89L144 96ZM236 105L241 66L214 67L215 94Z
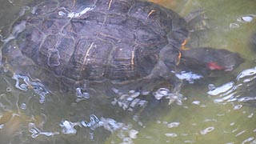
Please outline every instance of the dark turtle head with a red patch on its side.
M238 67L243 58L229 50L210 47L193 48L182 51L181 66L194 70L199 74L209 71L231 71Z

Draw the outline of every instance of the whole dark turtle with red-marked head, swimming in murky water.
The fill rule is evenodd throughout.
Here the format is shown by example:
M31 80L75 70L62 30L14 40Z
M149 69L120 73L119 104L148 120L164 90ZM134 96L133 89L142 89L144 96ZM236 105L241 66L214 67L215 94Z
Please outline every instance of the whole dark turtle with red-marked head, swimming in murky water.
M228 50L186 48L189 22L153 2L44 0L23 12L3 40L2 66L24 81L38 78L50 90L96 97L114 88L147 92L166 83L178 94L182 74L202 78L243 61Z

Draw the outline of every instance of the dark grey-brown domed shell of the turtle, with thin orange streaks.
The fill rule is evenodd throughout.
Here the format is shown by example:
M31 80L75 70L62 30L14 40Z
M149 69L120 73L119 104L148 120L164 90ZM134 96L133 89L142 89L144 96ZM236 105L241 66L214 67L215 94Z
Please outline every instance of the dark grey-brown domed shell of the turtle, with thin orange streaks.
M48 73L74 82L145 78L161 51L178 50L188 35L183 18L151 2L37 2L12 25L2 55L15 73L40 79Z

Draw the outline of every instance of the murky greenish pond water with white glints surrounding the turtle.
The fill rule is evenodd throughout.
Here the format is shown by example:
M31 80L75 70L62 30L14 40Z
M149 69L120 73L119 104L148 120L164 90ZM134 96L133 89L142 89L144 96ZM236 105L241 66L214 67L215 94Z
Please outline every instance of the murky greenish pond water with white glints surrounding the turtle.
M111 105L112 99L78 102L75 94L63 93L40 98L33 90L17 89L12 74L1 70L1 143L256 144L256 47L250 46L256 1L151 1L184 17L205 10L209 29L199 33L197 45L238 52L245 62L229 74L183 86L182 105L153 100L138 115ZM29 2L2 1L2 35Z

